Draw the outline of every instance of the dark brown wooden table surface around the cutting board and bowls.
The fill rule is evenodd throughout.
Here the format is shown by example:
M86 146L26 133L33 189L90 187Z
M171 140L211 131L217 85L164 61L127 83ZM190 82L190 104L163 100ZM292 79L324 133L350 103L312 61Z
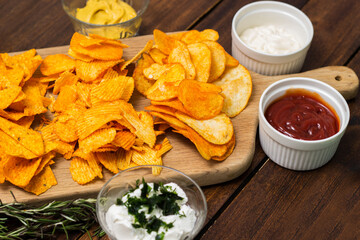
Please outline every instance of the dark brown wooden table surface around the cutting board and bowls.
M212 28L231 53L231 21L247 0L151 0L140 35ZM360 1L284 1L314 25L302 71L340 65L360 76ZM0 52L68 45L73 27L59 0L0 0ZM257 137L248 171L203 187L208 203L197 239L360 239L360 96L333 159L297 172L273 163ZM60 237L61 238L61 237ZM82 237L85 239L85 237Z

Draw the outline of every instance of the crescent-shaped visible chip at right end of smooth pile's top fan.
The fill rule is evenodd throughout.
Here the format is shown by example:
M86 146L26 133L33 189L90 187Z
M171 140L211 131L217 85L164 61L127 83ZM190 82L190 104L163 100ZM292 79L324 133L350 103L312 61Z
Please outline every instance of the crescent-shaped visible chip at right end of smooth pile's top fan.
M217 42L204 41L203 43L205 43L211 51L211 69L208 82L213 82L225 71L226 52Z

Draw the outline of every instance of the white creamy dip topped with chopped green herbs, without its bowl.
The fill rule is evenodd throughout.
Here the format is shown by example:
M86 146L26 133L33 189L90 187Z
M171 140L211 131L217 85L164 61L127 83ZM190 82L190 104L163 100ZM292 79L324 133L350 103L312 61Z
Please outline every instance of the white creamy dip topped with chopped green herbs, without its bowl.
M106 224L116 239L184 239L196 222L187 201L175 183L143 182L108 209Z

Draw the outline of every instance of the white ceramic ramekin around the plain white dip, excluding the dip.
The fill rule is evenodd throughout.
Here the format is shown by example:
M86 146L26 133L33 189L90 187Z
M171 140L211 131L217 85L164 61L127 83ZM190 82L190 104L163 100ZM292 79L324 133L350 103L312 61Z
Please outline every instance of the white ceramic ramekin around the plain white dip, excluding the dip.
M287 29L302 47L289 54L267 54L249 48L239 37L247 28L270 24ZM232 55L249 70L263 75L296 73L304 64L313 35L311 21L299 9L276 1L254 2L242 7L233 18Z

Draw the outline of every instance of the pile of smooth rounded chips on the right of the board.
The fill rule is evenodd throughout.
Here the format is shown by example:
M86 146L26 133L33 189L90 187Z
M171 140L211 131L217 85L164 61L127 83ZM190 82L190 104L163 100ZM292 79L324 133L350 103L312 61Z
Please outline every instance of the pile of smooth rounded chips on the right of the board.
M133 78L151 100L146 109L161 119L159 129L172 127L203 158L222 161L235 146L230 118L247 105L252 81L218 38L211 29L170 35L154 30L155 45L142 54Z

